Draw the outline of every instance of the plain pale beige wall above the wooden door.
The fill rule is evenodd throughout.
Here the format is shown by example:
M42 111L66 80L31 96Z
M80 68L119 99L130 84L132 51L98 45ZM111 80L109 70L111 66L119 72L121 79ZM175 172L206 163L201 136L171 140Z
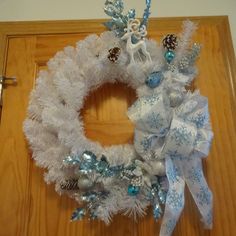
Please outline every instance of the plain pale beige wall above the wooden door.
M104 18L105 0L0 0L0 21ZM142 15L145 0L124 0ZM235 0L152 0L152 16L228 15L236 50Z

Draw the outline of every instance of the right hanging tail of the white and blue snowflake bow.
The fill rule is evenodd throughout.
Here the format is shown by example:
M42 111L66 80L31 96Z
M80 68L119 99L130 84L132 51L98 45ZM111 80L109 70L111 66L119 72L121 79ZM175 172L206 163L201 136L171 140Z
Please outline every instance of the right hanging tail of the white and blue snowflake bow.
M205 228L212 228L213 197L202 170L202 159L190 157L183 160L186 184L202 216Z

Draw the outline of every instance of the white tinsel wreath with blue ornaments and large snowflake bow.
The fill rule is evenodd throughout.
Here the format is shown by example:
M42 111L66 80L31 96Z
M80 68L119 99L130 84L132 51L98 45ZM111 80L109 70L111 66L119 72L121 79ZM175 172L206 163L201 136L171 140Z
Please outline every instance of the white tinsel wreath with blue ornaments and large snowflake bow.
M207 99L185 89L196 75L199 46L188 49L195 28L184 22L176 49L174 37L165 38L167 52L139 38L145 48L133 60L117 32L90 35L58 52L48 70L40 72L24 131L36 163L47 169L46 182L87 205L72 220L89 211L91 218L109 223L118 212L144 215L149 205L158 219L165 205L161 235L170 235L184 205L186 183L204 223L211 226L212 196L201 168L212 138ZM167 55L173 54L171 47L174 60ZM134 145L103 147L85 137L80 110L89 92L117 81L138 96L128 110L136 125Z

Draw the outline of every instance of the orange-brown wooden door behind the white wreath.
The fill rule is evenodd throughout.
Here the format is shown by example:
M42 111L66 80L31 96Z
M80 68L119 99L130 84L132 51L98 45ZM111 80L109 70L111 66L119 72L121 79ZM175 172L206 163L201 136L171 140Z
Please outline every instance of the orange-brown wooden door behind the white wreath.
M159 40L181 31L183 18L152 19L150 37ZM227 17L195 17L199 30L194 40L204 45L194 86L209 98L215 133L204 163L214 194L214 228L204 231L196 206L187 192L185 210L174 235L227 236L236 233L236 103L235 56ZM160 222L152 214L134 222L114 217L110 226L85 219L70 223L75 202L58 196L43 180L43 171L30 158L22 122L35 78L46 62L67 45L90 33L104 31L101 21L0 23L0 69L16 76L17 85L3 94L0 126L0 235L1 236L154 236ZM4 53L5 52L5 53ZM132 140L133 126L125 116L135 92L123 85L106 85L91 94L83 110L87 136L104 145ZM96 102L95 102L96 101ZM104 102L106 101L106 102ZM103 105L101 105L103 104ZM115 110L114 110L114 107ZM102 132L104 130L109 132ZM122 129L117 129L122 126Z

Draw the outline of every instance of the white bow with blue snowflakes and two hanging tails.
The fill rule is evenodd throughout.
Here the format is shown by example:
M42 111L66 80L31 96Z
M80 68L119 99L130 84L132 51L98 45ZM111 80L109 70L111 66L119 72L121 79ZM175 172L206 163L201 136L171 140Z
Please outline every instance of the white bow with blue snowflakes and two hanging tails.
M163 92L140 98L128 111L135 122L136 151L144 158L165 159L169 181L161 236L171 235L184 207L187 184L206 228L212 226L212 193L202 170L213 133L207 99L188 93L183 103L170 108Z

